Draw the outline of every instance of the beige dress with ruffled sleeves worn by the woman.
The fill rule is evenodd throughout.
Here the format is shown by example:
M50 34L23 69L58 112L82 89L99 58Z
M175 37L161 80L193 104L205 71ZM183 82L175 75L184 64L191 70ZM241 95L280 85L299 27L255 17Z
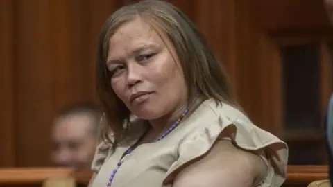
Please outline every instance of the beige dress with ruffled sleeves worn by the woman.
M228 139L246 150L255 150L268 165L266 177L255 186L281 186L287 175L287 145L273 134L253 125L238 109L216 105L206 100L164 139L139 145L123 159L111 187L169 187L164 184L171 172L202 156L215 141ZM127 146L114 152L101 143L96 149L92 170L96 172L92 186L107 186ZM264 156L266 155L266 156Z

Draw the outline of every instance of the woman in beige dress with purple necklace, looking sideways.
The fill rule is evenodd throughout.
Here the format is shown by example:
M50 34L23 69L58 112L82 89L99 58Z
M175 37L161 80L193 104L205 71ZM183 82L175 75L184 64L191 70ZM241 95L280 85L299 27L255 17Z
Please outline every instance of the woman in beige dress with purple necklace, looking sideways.
M283 183L287 145L241 112L220 62L170 3L140 1L114 12L97 66L105 141L90 186Z

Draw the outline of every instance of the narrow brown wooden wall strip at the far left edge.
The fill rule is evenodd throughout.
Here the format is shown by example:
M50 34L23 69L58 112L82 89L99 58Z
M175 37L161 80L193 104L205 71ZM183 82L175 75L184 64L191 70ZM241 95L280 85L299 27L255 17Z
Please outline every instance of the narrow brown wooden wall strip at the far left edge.
M0 166L15 164L15 124L13 100L14 12L11 0L0 1Z

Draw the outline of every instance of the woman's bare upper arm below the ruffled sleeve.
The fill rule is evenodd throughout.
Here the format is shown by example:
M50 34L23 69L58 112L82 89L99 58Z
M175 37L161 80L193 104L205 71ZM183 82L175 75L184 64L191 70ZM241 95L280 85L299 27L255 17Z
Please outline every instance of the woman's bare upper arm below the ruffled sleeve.
M218 141L202 159L181 170L173 187L252 187L266 177L268 168L257 154L231 141Z

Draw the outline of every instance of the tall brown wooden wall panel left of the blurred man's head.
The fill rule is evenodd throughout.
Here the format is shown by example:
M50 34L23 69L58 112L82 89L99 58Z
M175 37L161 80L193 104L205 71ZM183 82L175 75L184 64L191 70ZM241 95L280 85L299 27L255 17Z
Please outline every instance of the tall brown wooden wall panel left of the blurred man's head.
M61 72L53 51L51 1L17 1L15 118L17 166L44 166L49 159L53 79ZM65 90L64 90L65 91ZM66 92L63 96L66 97Z

